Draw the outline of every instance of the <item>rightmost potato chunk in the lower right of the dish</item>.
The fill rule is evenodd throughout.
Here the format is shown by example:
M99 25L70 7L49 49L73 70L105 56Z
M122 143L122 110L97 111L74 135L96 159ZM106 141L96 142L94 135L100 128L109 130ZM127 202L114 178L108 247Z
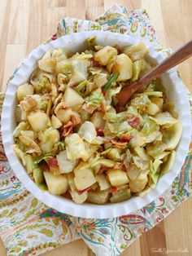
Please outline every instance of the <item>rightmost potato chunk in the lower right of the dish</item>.
M137 179L129 180L129 188L131 189L131 192L141 192L143 188L146 187L147 182L147 173L141 172L138 174Z

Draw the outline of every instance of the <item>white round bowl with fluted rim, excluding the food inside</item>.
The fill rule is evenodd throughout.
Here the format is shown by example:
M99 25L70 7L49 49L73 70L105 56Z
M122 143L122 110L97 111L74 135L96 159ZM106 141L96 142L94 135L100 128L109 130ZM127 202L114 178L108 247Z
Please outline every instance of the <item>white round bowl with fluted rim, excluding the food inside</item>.
M190 104L185 91L185 86L181 82L181 79L177 76L176 68L170 69L167 73L161 77L165 90L167 91L168 98L171 99L175 105L176 110L179 113L179 119L183 126L183 132L179 145L177 146L177 154L172 170L167 174L164 174L157 184L156 188L147 193L145 197L135 196L128 201L123 201L116 204L107 205L92 205L83 204L76 205L73 201L68 200L62 196L53 196L49 192L42 192L37 185L29 178L27 172L24 170L24 166L21 165L19 159L13 154L11 145L14 143L12 133L15 129L15 104L16 104L16 90L17 86L27 82L30 74L34 68L37 67L37 60L39 60L47 50L55 48L57 46L63 46L71 51L78 51L86 38L91 36L97 37L98 44L114 46L128 46L137 44L138 41L127 35L111 32L83 32L73 33L62 38L58 38L48 44L41 44L20 65L20 68L16 71L12 78L7 92L5 100L2 106L2 141L7 154L8 161L12 170L15 171L16 176L23 183L24 187L32 192L38 200L44 204L59 210L66 214L72 214L73 216L84 218L112 218L124 214L129 214L134 210L142 208L144 205L154 201L160 196L179 174L182 165L184 164L185 157L188 152L190 144ZM149 48L148 57L151 60L155 60L156 63L164 60L164 55L151 49L151 45L147 45Z

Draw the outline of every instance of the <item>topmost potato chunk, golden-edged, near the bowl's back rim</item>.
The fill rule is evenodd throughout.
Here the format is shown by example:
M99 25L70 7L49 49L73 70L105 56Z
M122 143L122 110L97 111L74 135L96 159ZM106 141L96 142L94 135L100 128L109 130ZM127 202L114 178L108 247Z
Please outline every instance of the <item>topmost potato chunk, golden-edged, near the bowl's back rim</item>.
M107 62L114 56L117 55L116 48L111 46L105 46L102 50L96 52L94 60L98 61L99 64L106 66Z

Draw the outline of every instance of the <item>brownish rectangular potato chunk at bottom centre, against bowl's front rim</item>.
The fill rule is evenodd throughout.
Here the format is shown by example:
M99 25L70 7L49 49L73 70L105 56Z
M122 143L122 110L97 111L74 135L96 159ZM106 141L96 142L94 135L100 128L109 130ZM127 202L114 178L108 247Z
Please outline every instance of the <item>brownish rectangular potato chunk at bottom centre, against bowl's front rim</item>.
M103 205L109 200L108 190L89 191L87 201L93 204Z

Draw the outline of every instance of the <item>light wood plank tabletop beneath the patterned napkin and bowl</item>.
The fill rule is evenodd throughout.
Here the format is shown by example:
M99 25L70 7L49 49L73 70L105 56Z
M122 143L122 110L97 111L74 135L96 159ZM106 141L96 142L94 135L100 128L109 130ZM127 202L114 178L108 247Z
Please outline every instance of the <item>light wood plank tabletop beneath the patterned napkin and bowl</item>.
M5 89L7 78L15 66L34 47L55 32L55 25L64 16L94 19L116 0L0 0L0 84ZM173 50L192 38L191 0L119 0L130 9L145 8L155 26L159 41ZM192 59L180 65L185 85L192 92ZM121 254L129 256L166 255L152 253L152 248L188 249L192 255L192 198L150 232L137 239ZM0 244L0 255L6 250ZM84 241L63 245L46 256L93 255ZM170 253L169 255L181 255Z

